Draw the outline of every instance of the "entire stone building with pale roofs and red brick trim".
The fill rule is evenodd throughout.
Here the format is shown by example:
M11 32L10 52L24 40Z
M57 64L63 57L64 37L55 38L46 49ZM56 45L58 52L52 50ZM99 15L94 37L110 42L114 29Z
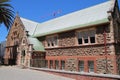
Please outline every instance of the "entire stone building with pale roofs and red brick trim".
M50 69L120 74L119 34L117 0L43 23L17 16L7 37L6 63L15 59L29 66L36 56Z

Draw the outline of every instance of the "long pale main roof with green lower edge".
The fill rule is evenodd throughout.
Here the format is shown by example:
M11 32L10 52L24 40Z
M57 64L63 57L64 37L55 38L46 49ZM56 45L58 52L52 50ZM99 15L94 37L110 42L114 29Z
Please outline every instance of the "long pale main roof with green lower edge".
M109 0L102 4L38 24L34 31L34 37L107 23L109 22L107 12L112 9L112 2L112 0Z

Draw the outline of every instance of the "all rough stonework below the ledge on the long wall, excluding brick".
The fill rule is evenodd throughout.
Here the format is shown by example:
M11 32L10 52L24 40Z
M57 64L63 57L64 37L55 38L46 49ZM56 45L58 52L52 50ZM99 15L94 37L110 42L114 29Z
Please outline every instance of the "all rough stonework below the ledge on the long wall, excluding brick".
M113 55L114 52L114 46L113 45L107 45L107 54ZM92 45L92 46L79 46L79 47L64 47L64 48L54 48L54 49L47 49L46 50L46 56L77 56L77 57L89 57L89 56L101 56L101 58L96 58L96 72L97 73L106 73L106 60L105 60L105 50L104 45ZM89 60L89 59L88 59ZM66 57L66 70L70 71L76 71L77 68L77 62L78 60L75 58L67 58ZM107 60L107 67L108 72L110 74L114 74L114 60L111 59Z

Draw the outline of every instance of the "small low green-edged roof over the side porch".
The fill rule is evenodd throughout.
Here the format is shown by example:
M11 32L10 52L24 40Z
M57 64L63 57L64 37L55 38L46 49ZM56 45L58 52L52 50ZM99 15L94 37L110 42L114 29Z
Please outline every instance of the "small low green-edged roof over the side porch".
M33 44L33 49L35 51L45 52L44 46L37 38L28 37L29 43Z

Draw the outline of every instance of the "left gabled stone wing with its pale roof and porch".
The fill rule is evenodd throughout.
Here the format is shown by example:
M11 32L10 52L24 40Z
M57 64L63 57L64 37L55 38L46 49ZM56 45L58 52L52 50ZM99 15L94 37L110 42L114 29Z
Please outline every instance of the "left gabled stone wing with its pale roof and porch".
M42 43L32 37L37 24L16 16L7 36L5 64L30 66L30 59L34 54L44 57L45 50Z

